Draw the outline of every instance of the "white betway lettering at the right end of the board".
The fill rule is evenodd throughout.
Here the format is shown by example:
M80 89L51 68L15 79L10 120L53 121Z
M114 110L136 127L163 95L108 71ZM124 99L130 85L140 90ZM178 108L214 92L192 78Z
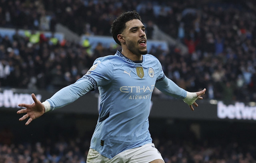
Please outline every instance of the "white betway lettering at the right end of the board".
M242 102L226 106L223 102L218 102L217 115L221 119L256 120L256 106L245 106Z

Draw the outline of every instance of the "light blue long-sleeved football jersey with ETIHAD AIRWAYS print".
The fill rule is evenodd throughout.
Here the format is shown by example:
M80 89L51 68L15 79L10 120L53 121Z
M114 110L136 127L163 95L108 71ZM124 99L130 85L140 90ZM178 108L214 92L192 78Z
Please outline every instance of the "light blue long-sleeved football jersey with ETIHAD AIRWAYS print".
M84 77L47 101L53 110L98 87L99 118L90 148L111 159L126 149L152 143L148 116L155 86L176 98L186 97L184 89L165 77L156 57L143 55L137 62L117 51L96 59Z

